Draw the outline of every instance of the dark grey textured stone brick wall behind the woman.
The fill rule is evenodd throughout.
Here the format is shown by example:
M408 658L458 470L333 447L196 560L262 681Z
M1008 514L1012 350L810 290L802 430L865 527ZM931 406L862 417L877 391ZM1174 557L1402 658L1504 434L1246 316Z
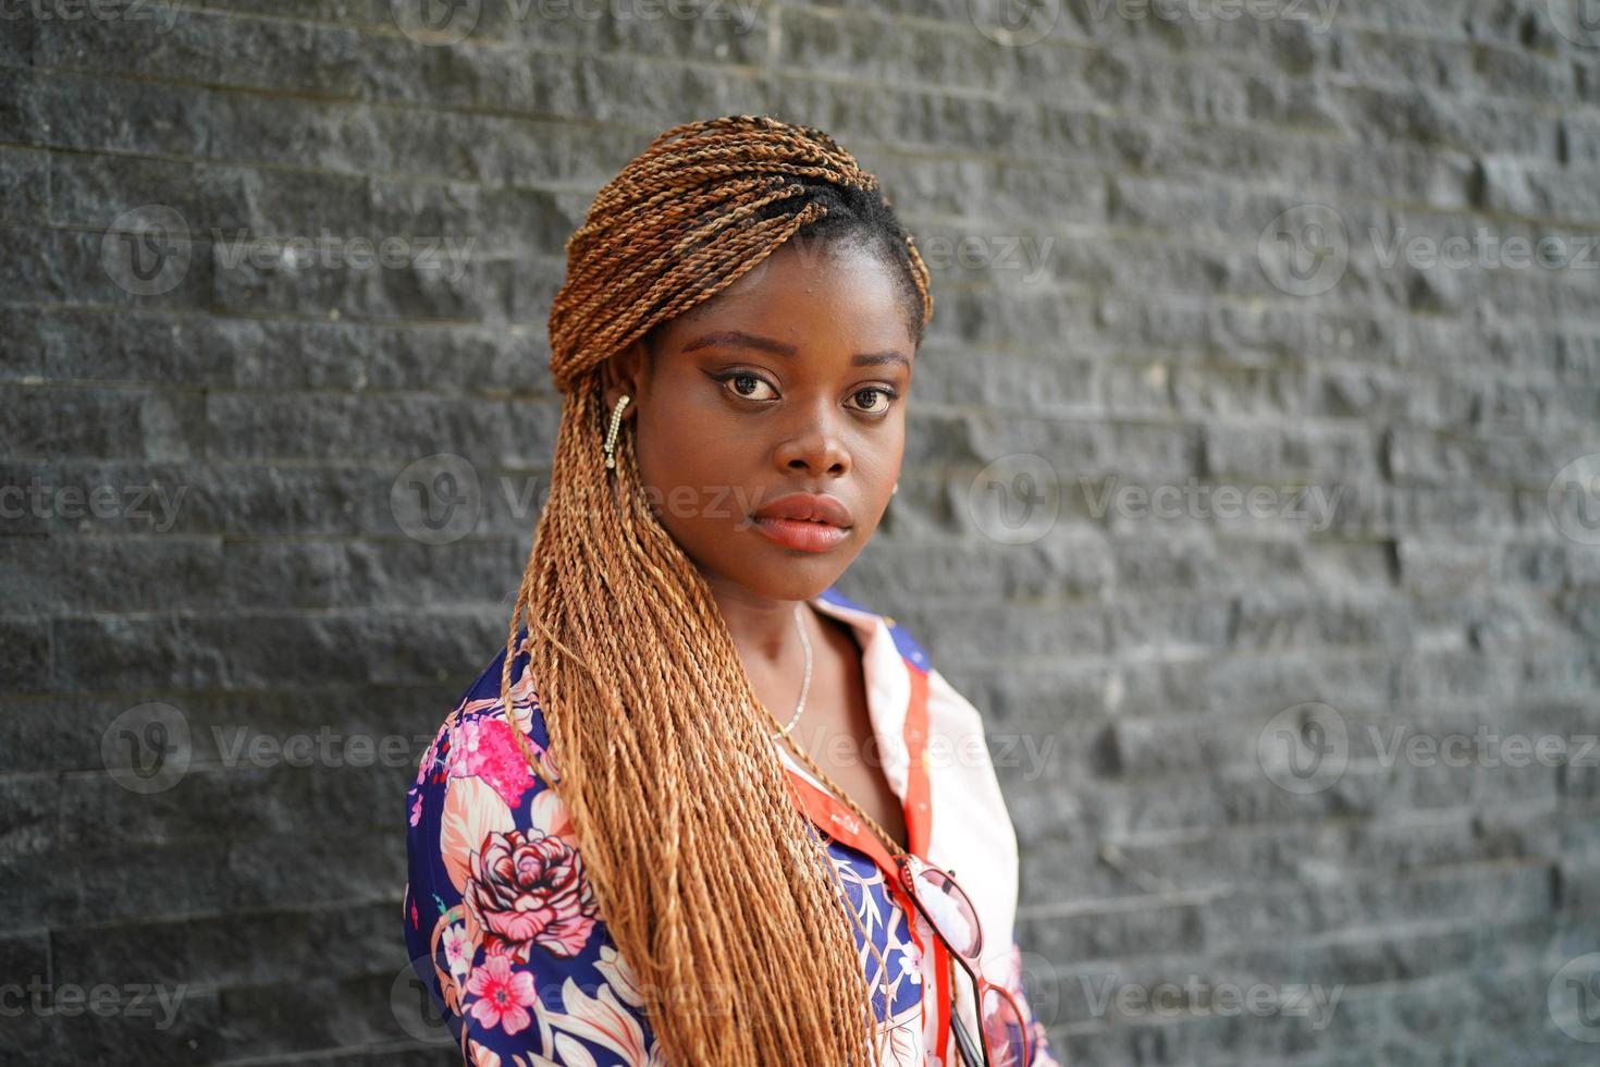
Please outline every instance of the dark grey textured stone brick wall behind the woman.
M1067 1062L1600 1048L1586 5L0 6L0 1059L453 1062L400 801L502 640L562 243L742 110L934 269L843 589L986 715Z

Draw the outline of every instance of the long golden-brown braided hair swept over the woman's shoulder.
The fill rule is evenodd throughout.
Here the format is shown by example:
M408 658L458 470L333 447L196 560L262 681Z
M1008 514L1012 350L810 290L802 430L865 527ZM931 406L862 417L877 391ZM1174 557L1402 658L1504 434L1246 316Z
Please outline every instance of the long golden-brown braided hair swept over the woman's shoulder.
M526 651L549 753L515 721L512 736L566 805L666 1059L685 1067L866 1067L878 1017L859 918L790 797L710 587L651 512L634 435L616 443L614 478L603 464L600 366L786 242L850 235L896 266L920 341L928 270L848 152L774 118L686 123L598 192L550 307L562 421L501 701L509 717Z

